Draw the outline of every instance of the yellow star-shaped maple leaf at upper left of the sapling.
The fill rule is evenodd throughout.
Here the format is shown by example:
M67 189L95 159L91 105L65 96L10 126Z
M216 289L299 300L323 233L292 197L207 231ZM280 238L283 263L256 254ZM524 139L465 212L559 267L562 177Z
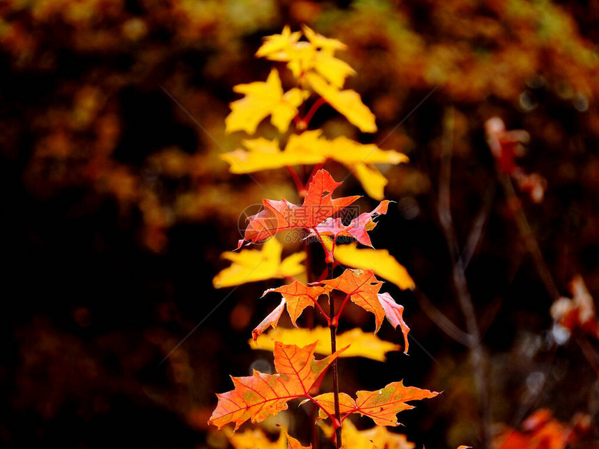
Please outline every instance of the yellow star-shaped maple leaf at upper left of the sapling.
M231 103L231 113L225 119L226 132L242 130L248 134L254 134L258 123L267 116L271 116L270 121L279 132L286 132L289 123L297 115L297 107L309 95L298 88L283 93L276 69L270 71L266 82L238 84L233 90L245 97Z

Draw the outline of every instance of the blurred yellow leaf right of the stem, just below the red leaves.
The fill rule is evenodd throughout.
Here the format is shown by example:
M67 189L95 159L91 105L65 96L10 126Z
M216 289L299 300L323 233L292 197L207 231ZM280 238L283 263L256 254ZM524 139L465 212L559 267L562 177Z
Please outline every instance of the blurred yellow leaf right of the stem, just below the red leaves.
M325 237L325 243L332 246L330 239ZM357 242L335 246L334 258L337 262L348 267L371 269L377 276L394 283L401 290L414 288L414 280L407 269L401 265L386 249L358 248Z

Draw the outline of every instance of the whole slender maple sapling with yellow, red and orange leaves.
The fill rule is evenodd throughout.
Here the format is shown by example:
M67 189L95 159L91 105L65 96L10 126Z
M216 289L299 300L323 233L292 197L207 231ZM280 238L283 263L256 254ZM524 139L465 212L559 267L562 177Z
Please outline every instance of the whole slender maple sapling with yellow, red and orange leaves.
M281 299L274 310L252 331L252 347L259 347L259 342L265 342L262 349L272 350L277 374L254 371L248 377L233 377L234 389L217 395L218 404L209 423L219 428L234 423L237 430L248 420L259 423L269 416L277 415L288 408L290 400L300 399L302 404L310 402L317 407L318 415L313 416L314 420L330 421L330 432L327 427L322 429L334 439L336 447L341 448L343 429L354 434L363 432L355 430L347 419L352 414L367 416L378 426L396 426L397 413L413 408L407 402L434 397L438 393L404 386L402 381L391 382L377 391L358 391L355 397L339 391L337 363L340 358L361 355L384 361L385 352L398 349L398 345L371 336L375 349L365 352L359 345L360 340L366 340L366 337L360 329L354 329L339 336L352 344L345 345L344 342L344 347L338 350L337 328L343 311L350 303L373 313L375 333L385 317L394 328L399 326L403 333L404 352L407 353L407 334L410 328L403 320L403 306L397 304L389 292L380 292L384 283L376 276L387 278L401 289L413 288L414 283L405 268L388 251L373 249L368 235L376 226L375 220L387 214L391 204L391 201L383 200L387 180L373 164L399 164L406 162L407 157L394 150L381 150L376 145L364 145L343 136L329 140L320 129L308 129L314 114L324 104L339 111L361 132L375 132L377 128L373 113L361 102L359 94L353 90L343 90L345 78L355 74L347 63L334 56L336 51L345 49L345 45L339 40L325 38L307 26L303 27L303 36L306 40L300 40L301 31L291 32L286 26L281 34L265 38L256 53L258 57L286 63L297 81L295 87L283 90L279 71L273 68L265 82L256 81L233 88L235 92L245 96L231 103L231 113L225 121L227 132L242 130L254 134L262 120L270 116L270 122L281 134L288 131L291 123L295 124L296 134L288 137L283 150L279 148L278 140L258 137L244 140L245 150L228 152L222 155L222 159L230 165L231 173L286 168L295 184L297 195L303 200L301 205L296 205L284 198L263 199L263 210L247 219L247 228L238 242L239 253L224 253L224 257L231 260L233 265L215 276L215 287L272 277L286 278L289 282L263 293L263 297L280 294ZM314 96L316 99L308 112L301 116L299 107ZM371 212L359 214L345 225L339 212L360 197L334 198L335 191L341 187L342 182L336 182L323 168L329 161L339 162L350 173L355 173L366 194L380 200L379 205ZM311 167L307 180L302 180L295 166ZM306 172L304 170L301 173ZM281 261L281 244L277 242L276 235L293 230L301 230L308 237L304 239L306 251L290 255ZM355 242L339 245L348 238ZM259 242L265 242L262 250L245 249L246 246ZM318 242L325 254L327 269L320 276L299 265L303 260L310 261L311 242ZM358 243L369 248L360 249L357 247ZM264 261L267 263L260 268ZM341 265L348 268L334 276ZM313 282L306 283L295 278L300 274ZM336 294L343 298L338 308ZM328 311L319 302L325 297L329 302ZM330 351L319 341L326 328L299 329L297 321L306 308L312 308L327 324ZM285 310L296 329L281 333L277 324ZM273 328L272 332L279 333L266 334L270 327ZM264 340L266 335L269 338ZM275 335L280 339L274 338L272 345ZM293 341L283 341L286 338ZM356 350L352 349L354 345ZM316 359L317 350L328 354L323 359ZM329 368L332 369L333 391L318 394ZM377 435L378 444L382 446L398 441L399 438L391 432L381 431ZM287 430L281 428L281 438L283 436L290 448L304 447L288 436ZM255 444L258 445L261 437L255 438ZM316 446L318 434L313 432L312 438L312 443ZM230 437L230 441L235 446L235 440ZM357 441L364 440L352 438L346 442L345 449L357 448ZM367 441L371 443L370 439ZM371 446L366 443L366 446L359 447L374 447L372 445L373 443Z

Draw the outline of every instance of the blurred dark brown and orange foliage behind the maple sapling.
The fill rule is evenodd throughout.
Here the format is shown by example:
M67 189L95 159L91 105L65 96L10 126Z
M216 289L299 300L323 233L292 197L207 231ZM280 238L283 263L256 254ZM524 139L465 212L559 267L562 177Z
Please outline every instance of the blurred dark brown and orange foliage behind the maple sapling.
M484 123L499 116L530 134L518 164L546 191L520 197L561 294L576 274L599 292L598 19L597 0L3 1L2 446L224 447L206 424L214 393L230 389L228 373L272 363L247 338L272 307L257 298L276 281L235 290L161 360L228 293L212 288L226 266L219 255L235 246L242 210L265 196L218 157L246 137L224 134L238 98L231 88L266 78L270 65L253 56L263 36L302 23L348 45L341 58L357 70L348 87L379 130L359 135L328 107L313 126L331 138L384 139L382 148L411 159L382 167L397 204L373 233L375 247L389 249L462 326L436 210L443 118L453 111L460 243L488 211L467 277L493 421L518 427L547 407L563 423L577 413L597 423L597 374L573 339L554 338L552 298L505 201ZM258 132L277 137L267 121ZM298 200L284 171L255 176ZM361 193L352 178L343 188ZM475 443L467 350L414 294L394 296L419 344L410 357L390 354L384 369L343 361L344 388L404 378L444 391L400 419L408 439ZM369 329L355 313L352 322ZM384 338L398 336L384 329ZM596 341L589 345L596 354Z

